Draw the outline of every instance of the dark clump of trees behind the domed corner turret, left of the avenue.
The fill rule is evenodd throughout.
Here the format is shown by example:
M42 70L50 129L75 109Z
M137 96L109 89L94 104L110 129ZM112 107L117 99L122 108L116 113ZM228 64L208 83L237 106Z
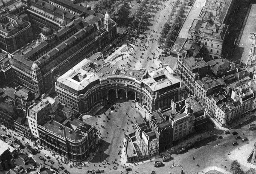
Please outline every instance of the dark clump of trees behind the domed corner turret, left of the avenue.
M125 0L99 0L94 6L94 11L101 14L108 12L111 18L120 26L129 25L129 9L131 8Z

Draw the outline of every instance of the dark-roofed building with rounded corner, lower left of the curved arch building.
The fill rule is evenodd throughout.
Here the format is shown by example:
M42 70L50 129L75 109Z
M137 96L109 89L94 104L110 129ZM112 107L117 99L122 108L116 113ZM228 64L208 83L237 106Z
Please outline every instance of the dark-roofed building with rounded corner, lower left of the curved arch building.
M62 157L84 161L94 148L94 127L70 116L62 123L54 120L38 125L40 144Z

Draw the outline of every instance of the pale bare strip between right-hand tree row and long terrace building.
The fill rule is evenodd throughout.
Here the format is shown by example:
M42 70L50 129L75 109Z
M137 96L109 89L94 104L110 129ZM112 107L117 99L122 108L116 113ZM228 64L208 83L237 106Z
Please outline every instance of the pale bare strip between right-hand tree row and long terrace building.
M195 0L195 3L192 6L192 9L190 10L181 30L179 33L179 38L188 38L188 31L194 21L194 19L197 19L199 16L201 10L203 9L205 5L206 0Z

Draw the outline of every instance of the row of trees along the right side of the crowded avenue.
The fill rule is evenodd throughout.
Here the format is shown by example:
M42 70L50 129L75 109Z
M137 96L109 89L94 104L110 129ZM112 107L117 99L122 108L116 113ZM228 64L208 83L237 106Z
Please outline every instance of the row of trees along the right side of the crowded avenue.
M178 10L177 14L174 16L174 13L176 11L176 9L178 8L178 6L180 6L180 9ZM160 38L158 40L158 43L161 44L165 44L166 46L171 46L171 44L173 43L173 41L175 40L180 27L182 26L182 23L185 19L186 15L185 15L185 4L181 5L180 0L177 0L174 4L174 6L172 6L172 12L169 15L169 19L167 21L167 23L164 24ZM170 22L170 20L173 20L173 23Z

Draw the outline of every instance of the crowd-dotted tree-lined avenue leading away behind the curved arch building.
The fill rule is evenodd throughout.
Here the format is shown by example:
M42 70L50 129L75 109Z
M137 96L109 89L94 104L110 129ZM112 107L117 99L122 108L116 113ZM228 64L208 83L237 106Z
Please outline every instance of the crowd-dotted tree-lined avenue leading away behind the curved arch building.
M140 70L141 68L155 70L162 67L160 61L158 59L153 59L153 57L158 58L159 55L162 55L161 52L164 51L163 49L158 48L159 44L157 43L157 40L160 37L163 25L167 22L168 16L171 13L172 4L175 1L176 0L160 1L161 4L157 5L159 10L154 10L154 12L152 12L154 17L149 19L149 23L151 24L148 26L148 30L145 31L145 38L137 39L135 45L131 44L134 48L131 50L131 56L124 59L124 61L118 61L115 66L130 70ZM145 48L143 48L144 44ZM155 53L155 55L152 53ZM140 56L142 56L142 58L140 58ZM151 58L151 60L147 58ZM127 65L127 63L130 65Z

